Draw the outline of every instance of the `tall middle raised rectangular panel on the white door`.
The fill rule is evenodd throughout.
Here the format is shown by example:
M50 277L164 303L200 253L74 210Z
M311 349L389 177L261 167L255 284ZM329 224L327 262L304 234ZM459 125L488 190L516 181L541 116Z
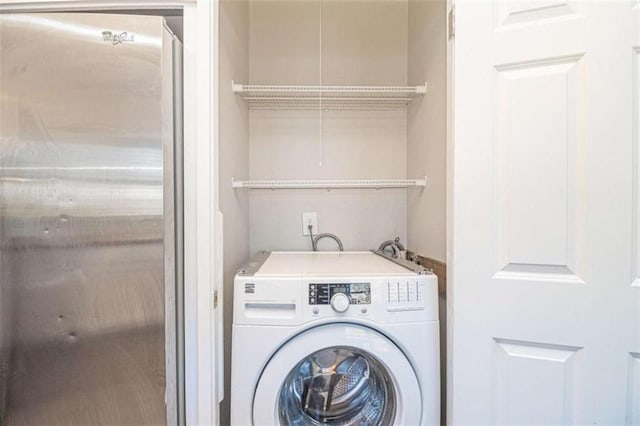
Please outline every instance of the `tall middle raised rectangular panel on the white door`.
M495 66L494 278L583 283L583 56Z

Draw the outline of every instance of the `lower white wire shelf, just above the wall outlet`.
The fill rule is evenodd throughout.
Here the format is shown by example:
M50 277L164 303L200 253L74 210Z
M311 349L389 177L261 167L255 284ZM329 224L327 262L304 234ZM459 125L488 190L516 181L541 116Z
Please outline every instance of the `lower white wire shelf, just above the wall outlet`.
M426 176L421 179L355 179L355 180L231 180L233 188L247 189L383 189L424 187Z

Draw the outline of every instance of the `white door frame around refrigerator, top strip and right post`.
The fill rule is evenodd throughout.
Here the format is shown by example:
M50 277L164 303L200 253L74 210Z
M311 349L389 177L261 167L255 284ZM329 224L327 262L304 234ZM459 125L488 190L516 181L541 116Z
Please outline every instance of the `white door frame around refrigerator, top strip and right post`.
M0 13L109 10L181 11L184 98L185 421L219 424L223 395L216 370L214 293L222 288L215 259L222 247L218 223L219 0L0 0ZM221 307L217 309L221 310Z

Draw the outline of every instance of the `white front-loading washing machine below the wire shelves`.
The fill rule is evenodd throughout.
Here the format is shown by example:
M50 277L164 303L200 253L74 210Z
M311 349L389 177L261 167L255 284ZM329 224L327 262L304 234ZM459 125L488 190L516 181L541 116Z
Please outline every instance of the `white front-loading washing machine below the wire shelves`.
M395 262L264 252L243 268L232 425L439 424L437 278Z

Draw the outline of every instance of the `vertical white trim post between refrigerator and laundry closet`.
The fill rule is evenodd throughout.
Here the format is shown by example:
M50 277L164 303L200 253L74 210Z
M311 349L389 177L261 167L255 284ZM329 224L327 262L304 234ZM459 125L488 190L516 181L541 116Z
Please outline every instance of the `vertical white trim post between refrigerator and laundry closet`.
M217 0L184 7L186 422L218 424L214 343ZM214 38L215 37L215 38ZM208 96L207 96L208 94ZM187 101L189 99L189 101ZM186 119L190 117L190 119ZM194 143L186 143L192 141Z

